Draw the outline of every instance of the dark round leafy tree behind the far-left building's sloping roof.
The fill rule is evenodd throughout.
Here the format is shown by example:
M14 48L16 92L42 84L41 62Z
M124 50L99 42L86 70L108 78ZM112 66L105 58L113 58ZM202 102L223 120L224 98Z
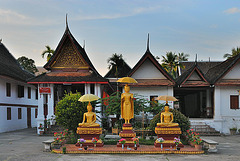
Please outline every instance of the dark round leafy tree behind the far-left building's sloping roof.
M17 59L18 63L27 71L34 74L38 72L38 69L35 65L35 61L33 59L29 59L25 56L19 57Z

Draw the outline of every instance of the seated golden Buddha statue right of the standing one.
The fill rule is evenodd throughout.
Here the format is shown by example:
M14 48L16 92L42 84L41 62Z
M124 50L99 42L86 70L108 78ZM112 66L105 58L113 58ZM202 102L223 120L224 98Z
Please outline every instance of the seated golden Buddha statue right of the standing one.
M172 127L178 126L178 123L173 123L173 113L169 112L169 106L166 104L164 112L161 113L161 123L157 123L160 127Z

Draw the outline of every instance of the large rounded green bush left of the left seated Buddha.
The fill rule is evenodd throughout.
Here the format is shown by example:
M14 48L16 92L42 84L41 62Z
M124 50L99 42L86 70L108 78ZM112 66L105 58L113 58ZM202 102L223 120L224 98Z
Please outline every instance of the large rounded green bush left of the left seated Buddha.
M87 112L87 103L79 102L80 93L68 93L56 106L56 121L59 125L76 131L78 124L83 120L83 114Z

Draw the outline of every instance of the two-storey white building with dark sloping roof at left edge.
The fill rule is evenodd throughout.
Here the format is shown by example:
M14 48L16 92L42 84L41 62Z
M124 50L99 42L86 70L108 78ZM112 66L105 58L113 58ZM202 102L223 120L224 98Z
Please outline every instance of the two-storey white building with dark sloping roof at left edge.
M0 133L36 127L38 92L27 80L34 77L0 42Z

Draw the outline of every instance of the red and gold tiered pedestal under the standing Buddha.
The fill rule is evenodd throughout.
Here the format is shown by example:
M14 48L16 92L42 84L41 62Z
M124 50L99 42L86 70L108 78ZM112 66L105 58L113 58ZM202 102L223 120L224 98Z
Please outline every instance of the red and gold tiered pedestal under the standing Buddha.
M119 136L123 139L126 139L124 147L134 147L134 142L132 141L132 138L136 137L136 133L132 130L132 125L123 124L122 129L123 131L119 133ZM137 144L137 146L139 147L139 144ZM122 147L122 144L117 143L117 147Z

